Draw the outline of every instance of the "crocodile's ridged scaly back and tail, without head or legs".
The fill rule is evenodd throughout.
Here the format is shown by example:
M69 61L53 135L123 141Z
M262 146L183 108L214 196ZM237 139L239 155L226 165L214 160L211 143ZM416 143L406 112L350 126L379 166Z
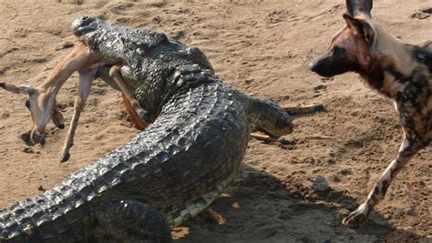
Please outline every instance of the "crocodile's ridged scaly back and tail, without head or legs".
M172 96L128 145L43 195L0 209L0 242L97 242L111 236L115 226L105 228L103 216L122 199L158 208L170 227L197 215L231 181L246 150L247 114L231 95L209 82Z

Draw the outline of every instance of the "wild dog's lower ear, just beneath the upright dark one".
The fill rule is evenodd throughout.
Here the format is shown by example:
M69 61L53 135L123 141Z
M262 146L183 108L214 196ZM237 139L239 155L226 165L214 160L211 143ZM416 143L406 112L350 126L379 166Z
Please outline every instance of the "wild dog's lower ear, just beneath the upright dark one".
M354 18L351 15L344 14L344 19L348 28L351 29L354 35L361 36L369 45L375 43L376 31L373 25L363 18Z

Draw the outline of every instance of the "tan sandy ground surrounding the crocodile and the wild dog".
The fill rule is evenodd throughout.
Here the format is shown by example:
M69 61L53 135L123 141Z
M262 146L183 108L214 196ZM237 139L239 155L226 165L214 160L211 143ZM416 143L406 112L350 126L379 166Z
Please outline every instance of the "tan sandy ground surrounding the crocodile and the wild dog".
M60 3L58 3L60 2ZM63 2L63 3L61 3ZM432 242L432 149L397 177L364 228L340 224L396 156L401 142L392 103L353 74L323 79L307 64L344 23L345 1L1 1L0 82L37 86L74 44L70 24L96 15L130 27L163 31L199 46L232 86L281 105L322 103L327 112L295 121L278 147L251 140L226 193L184 227L176 242ZM432 40L431 0L375 3L375 23L402 40ZM428 17L429 16L429 17ZM57 97L70 120L77 75ZM48 126L46 145L22 140L30 117L26 96L0 90L0 208L39 194L139 133L116 91L92 87L69 162L58 163L66 130Z

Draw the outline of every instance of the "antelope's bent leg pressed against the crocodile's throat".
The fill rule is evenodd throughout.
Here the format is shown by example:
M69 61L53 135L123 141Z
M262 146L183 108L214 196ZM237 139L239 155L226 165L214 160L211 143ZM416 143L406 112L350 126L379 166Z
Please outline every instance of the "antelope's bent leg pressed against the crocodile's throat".
M139 105L138 100L135 98L132 91L130 91L129 87L126 86L123 78L120 76L120 67L112 66L111 69L109 69L109 76L111 76L111 78L116 82L118 87L120 87L123 94L127 97L129 104L126 105L132 107L132 111L139 116L139 118L142 120L142 122L146 124L146 126L151 123L149 113Z

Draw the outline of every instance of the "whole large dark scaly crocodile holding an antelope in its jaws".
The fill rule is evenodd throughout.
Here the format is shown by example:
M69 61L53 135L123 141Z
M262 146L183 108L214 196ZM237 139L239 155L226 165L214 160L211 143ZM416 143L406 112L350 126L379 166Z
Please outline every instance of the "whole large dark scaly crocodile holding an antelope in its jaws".
M83 16L73 33L108 60L154 120L125 146L44 194L0 209L0 242L170 242L239 170L252 127L272 137L293 116L215 75L197 47ZM98 77L118 88L101 67Z

